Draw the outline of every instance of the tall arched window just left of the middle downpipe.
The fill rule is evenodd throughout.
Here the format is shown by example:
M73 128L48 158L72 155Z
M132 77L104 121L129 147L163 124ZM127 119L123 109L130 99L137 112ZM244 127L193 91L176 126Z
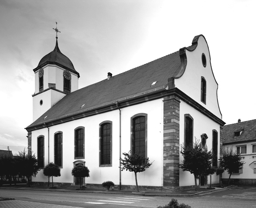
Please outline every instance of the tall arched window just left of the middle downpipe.
M112 121L100 124L100 166L112 164Z

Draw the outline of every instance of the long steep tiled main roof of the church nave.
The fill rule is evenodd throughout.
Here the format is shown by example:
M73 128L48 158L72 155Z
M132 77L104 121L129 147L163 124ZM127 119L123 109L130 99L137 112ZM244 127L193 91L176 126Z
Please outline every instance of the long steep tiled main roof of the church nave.
M27 128L78 111L82 113L93 106L115 102L154 89L164 89L168 78L176 76L178 72L180 72L179 51L113 76L109 80L105 79L69 93ZM155 81L156 84L151 86ZM82 105L84 106L81 108Z

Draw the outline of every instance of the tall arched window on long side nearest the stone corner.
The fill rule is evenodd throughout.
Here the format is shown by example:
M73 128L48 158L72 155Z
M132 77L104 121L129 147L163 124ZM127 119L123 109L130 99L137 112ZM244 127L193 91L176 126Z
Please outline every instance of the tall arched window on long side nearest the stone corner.
M132 123L132 153L145 156L145 116L135 117Z

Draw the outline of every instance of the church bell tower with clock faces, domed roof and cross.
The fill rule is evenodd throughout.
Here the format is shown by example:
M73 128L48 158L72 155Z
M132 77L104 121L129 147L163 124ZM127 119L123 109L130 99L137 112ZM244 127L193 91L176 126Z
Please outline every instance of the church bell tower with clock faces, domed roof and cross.
M33 122L48 111L65 95L78 90L79 73L58 46L57 22L56 45L52 52L44 56L35 72L35 93L33 97Z

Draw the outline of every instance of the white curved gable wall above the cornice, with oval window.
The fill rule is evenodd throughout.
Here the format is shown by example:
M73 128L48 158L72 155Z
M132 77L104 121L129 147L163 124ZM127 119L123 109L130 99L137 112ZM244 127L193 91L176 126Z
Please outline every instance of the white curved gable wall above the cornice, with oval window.
M202 53L206 56L206 67L202 64ZM210 53L204 37L200 36L197 48L192 52L186 50L186 54L187 67L184 74L175 79L175 87L221 119L217 100L218 85L210 65ZM201 102L201 76L206 80L206 104Z

